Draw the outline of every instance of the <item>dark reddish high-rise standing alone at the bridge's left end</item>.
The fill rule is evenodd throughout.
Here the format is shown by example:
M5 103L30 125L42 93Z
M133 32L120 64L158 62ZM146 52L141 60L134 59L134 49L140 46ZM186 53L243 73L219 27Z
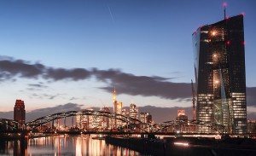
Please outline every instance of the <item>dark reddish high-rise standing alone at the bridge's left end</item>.
M18 121L20 124L25 124L26 110L24 101L16 100L14 107L14 120Z

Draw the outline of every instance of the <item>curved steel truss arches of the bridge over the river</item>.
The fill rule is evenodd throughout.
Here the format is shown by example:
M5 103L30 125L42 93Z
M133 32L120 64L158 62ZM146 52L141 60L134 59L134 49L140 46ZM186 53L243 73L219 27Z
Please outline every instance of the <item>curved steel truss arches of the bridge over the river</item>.
M6 119L6 118L0 118L0 128L2 131L4 130L19 130L20 127L23 130L34 130L40 126L43 126L45 124L54 124L54 122L58 119L64 119L64 126L67 127L67 118L72 118L72 125L74 125L74 117L77 117L78 115L88 115L93 117L107 117L111 118L111 122L113 120L120 120L123 123L126 123L126 125L133 125L134 127L137 127L141 130L143 133L157 133L161 132L162 130L166 130L170 127L174 126L181 126L181 125L201 125L205 126L211 130L215 130L219 133L224 133L225 129L223 125L220 124L212 124L209 122L203 122L200 120L172 120L172 121L166 121L162 122L160 124L148 124L140 121L137 118L131 118L130 116L125 116L118 113L110 113L110 112L104 112L104 111L93 111L93 110L79 110L79 111L69 111L64 113L54 113L50 114L41 118L34 119L30 122L27 122L26 124L20 124L17 121ZM113 123L112 123L113 125ZM111 125L111 126L112 126Z

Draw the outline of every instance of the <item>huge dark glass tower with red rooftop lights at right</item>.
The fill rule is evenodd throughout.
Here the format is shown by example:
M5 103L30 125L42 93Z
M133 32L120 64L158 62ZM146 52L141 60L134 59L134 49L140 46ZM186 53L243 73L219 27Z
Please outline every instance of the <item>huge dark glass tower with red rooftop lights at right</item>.
M247 132L243 14L200 26L193 34L196 119L229 134ZM222 125L222 126L220 126ZM210 128L211 127L211 128Z

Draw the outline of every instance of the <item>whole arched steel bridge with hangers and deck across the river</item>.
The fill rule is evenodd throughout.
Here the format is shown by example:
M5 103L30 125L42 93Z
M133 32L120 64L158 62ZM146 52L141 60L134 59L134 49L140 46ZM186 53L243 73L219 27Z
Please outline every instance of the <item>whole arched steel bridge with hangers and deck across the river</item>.
M110 113L105 111L94 111L90 109L84 109L79 111L69 111L69 112L63 112L63 113L54 113L49 114L44 117L36 118L32 121L27 122L26 124L20 124L17 121L6 119L6 118L0 118L0 129L2 131L16 131L22 129L23 131L31 131L31 130L42 130L42 126L53 128L55 122L57 121L58 124L59 120L63 120L63 127L67 128L67 118L71 118L71 130L74 130L74 117L78 116L90 116L92 118L99 118L99 117L105 117L110 120L110 126L108 127L108 130L121 130L128 133L161 133L161 132L169 132L170 133L170 127L173 128L181 128L182 126L189 126L195 127L196 125L201 125L203 127L206 127L208 129L211 129L213 131L216 131L218 133L225 133L225 127L220 124L211 124L207 122L203 122L200 120L172 120L172 121L166 121L159 124L149 124L144 123L140 121L137 118L131 118L130 116L125 116L118 113ZM116 121L120 121L123 123L123 125L117 127ZM136 131L135 129L139 130ZM61 131L61 130L59 130ZM82 131L82 130L80 130ZM84 130L83 130L84 131ZM95 131L95 130L85 130L85 131ZM106 131L106 130L105 130ZM113 132L113 131L112 131ZM179 130L179 132L182 132L182 130ZM187 131L189 133L190 131ZM171 133L174 133L174 130L171 130Z

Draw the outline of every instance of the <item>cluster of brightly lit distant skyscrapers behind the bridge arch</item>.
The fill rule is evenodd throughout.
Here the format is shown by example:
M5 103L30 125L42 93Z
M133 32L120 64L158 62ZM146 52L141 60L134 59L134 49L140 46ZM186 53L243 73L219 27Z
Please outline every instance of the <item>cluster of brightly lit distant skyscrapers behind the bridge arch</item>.
M92 111L92 110L91 110ZM102 112L110 113L110 109L108 107L103 107L100 109ZM141 113L138 112L138 107L136 104L131 103L128 109L125 109L122 105L121 101L117 101L116 99L116 90L113 90L113 114L118 116L121 115L122 118L108 118L101 116L99 114L92 115L83 115L82 113L78 113L76 116L76 126L79 129L85 130L110 130L110 129L119 129L119 128L127 128L128 124L139 124L136 120L130 120L130 118L140 119L143 123L152 124L152 115L150 113ZM140 115L140 118L139 118ZM130 129L134 128L130 126Z

